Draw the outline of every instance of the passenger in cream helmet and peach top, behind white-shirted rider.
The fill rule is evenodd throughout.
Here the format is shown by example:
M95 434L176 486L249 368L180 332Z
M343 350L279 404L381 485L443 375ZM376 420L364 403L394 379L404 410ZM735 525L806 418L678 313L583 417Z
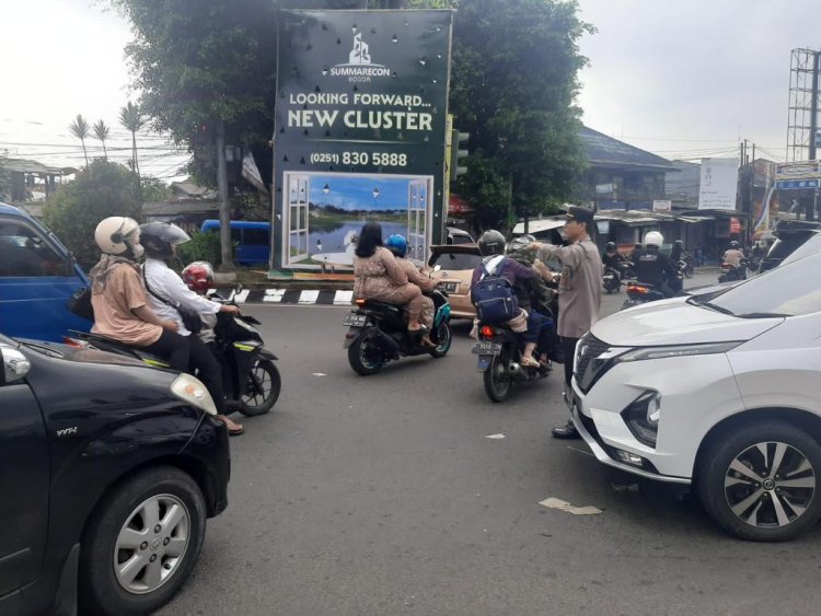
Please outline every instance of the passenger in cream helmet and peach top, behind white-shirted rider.
M188 367L188 339L177 334L172 318L161 318L149 306L135 263L143 254L137 221L113 216L100 221L94 241L103 255L91 268L91 330L113 340L155 353L174 370Z

